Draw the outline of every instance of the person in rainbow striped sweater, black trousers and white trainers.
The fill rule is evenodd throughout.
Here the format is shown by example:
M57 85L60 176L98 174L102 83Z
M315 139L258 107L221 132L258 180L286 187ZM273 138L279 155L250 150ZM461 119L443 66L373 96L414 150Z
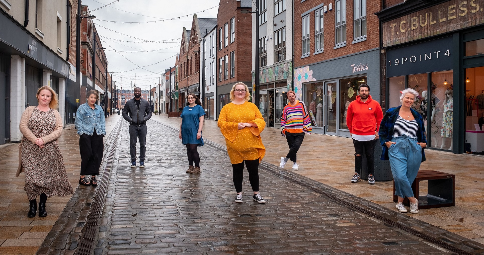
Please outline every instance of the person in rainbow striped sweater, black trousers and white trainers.
M284 105L282 110L281 134L286 136L289 152L287 152L286 157L281 157L279 167L284 169L284 165L290 159L293 162L292 170L299 170L299 165L296 163L296 153L301 147L304 133L311 134L311 120L306 105L302 101L296 100L296 93L287 91L286 94L289 103Z

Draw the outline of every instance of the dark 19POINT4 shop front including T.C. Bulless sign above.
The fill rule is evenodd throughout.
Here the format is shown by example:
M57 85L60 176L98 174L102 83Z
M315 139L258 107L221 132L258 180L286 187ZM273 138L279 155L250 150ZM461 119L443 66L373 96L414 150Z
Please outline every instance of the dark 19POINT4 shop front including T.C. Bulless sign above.
M416 90L412 107L424 119L429 148L484 151L483 4L451 0L403 16L378 14L386 19L384 110L400 105L401 90Z

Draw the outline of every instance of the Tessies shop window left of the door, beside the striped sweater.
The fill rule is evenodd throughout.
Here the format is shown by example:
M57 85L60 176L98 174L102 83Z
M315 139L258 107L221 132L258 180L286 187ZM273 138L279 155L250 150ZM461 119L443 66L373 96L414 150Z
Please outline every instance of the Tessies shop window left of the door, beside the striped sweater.
M323 94L324 84L322 82L304 85L304 104L309 114L316 118L318 127L323 126Z

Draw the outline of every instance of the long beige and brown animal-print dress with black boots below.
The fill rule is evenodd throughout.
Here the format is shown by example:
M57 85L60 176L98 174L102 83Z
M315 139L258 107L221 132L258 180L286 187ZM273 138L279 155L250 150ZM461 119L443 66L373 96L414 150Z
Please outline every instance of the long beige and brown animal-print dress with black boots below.
M36 137L44 137L56 128L56 115L53 109L43 112L35 109L27 124ZM71 183L67 179L64 159L57 140L46 143L41 149L27 138L22 141L22 165L25 171L25 192L29 200L44 193L66 196L73 194Z

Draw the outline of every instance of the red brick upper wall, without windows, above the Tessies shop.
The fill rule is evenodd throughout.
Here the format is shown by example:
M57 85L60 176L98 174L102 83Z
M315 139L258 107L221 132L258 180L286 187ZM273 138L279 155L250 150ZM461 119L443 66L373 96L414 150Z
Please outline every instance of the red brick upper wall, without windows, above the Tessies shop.
M301 59L302 56L302 13L311 10L321 4L319 0L306 0L302 3L294 1L294 66L303 66L322 60L329 60L351 53L364 51L379 47L379 20L374 13L381 10L380 1L366 1L366 41L352 44L353 41L353 0L346 0L346 46L333 49L335 45L335 14L336 8L333 2L333 10L324 14L324 52L313 55L315 49L315 12L310 13L310 54L309 57Z

